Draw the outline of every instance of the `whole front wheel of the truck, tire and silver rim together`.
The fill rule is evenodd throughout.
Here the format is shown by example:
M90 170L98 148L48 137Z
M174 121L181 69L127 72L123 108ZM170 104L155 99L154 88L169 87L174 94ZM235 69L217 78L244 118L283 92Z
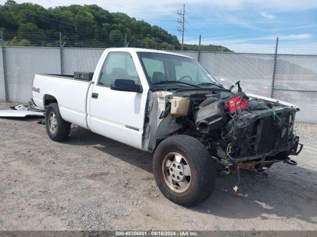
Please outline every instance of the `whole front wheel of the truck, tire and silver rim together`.
M161 193L169 200L193 206L211 196L215 168L206 147L188 135L163 140L154 153L154 177Z

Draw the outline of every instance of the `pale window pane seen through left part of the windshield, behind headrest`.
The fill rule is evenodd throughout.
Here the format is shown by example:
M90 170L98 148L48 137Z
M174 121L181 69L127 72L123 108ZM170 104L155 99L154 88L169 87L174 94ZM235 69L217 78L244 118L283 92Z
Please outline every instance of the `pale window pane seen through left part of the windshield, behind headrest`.
M164 65L162 61L149 58L143 58L142 61L152 83L165 80Z

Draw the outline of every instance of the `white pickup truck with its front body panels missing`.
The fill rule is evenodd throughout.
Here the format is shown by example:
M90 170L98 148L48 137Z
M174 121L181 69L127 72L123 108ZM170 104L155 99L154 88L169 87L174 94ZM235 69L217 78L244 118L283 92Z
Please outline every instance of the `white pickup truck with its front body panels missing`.
M74 123L154 152L157 185L178 204L210 197L216 172L297 164L288 156L302 148L293 133L299 108L245 94L239 81L225 89L190 57L110 48L94 74L74 75L35 75L33 101L46 111L49 137L66 139Z

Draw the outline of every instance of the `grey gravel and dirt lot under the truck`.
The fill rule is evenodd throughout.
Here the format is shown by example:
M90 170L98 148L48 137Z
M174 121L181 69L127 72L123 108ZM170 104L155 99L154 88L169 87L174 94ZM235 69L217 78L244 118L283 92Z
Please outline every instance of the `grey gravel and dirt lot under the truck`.
M9 104L0 104L0 109ZM73 126L53 142L37 118L0 118L0 230L317 230L317 125L297 124L298 166L217 177L193 208L163 197L152 154Z

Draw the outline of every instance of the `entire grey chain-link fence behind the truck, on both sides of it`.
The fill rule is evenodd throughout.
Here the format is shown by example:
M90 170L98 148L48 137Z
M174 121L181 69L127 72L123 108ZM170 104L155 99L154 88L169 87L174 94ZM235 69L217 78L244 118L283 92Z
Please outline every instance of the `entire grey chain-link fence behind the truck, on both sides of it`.
M103 48L5 47L0 65L0 101L28 102L34 74L72 75L94 72ZM190 56L228 88L240 80L247 93L298 105L297 121L317 123L313 105L317 100L317 56L232 52L171 51ZM200 54L200 55L199 55ZM0 50L0 59L2 51ZM274 61L276 68L274 71ZM5 70L5 74L4 74ZM5 75L5 78L4 78ZM7 96L5 83L7 83ZM273 82L273 83L272 83Z

